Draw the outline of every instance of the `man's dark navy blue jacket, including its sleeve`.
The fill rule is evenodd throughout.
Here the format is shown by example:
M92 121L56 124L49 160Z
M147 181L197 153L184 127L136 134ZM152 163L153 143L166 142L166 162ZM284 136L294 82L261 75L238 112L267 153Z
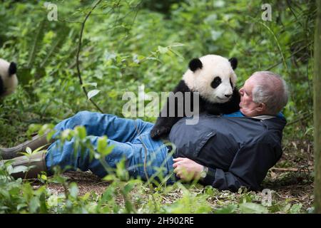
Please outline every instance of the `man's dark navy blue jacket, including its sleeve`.
M174 157L188 157L209 167L203 185L237 191L241 186L260 190L260 184L282 155L284 118L200 115L198 124L185 118L170 131Z

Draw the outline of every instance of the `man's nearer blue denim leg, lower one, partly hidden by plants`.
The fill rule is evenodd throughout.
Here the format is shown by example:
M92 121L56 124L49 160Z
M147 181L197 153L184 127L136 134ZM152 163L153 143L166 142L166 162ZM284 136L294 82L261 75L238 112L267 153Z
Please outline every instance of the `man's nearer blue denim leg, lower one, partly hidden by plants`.
M88 136L88 138L96 150L99 137ZM50 174L53 173L53 167L56 165L60 166L64 171L76 170L77 168L83 171L91 170L98 177L104 177L108 174L99 160L95 158L90 160L88 149L84 150L83 153L80 150L75 153L73 143L74 139L64 142L61 147L60 140L57 140L48 148L46 166ZM152 177L156 172L159 172L160 167L163 176L168 175L173 170L173 159L172 157L168 159L168 149L160 140L143 145L140 140L132 143L108 139L108 145L114 146L111 154L105 158L108 166L114 169L116 164L125 158L126 169L131 177L139 176L142 180L146 180L146 175ZM144 162L146 163L145 167Z

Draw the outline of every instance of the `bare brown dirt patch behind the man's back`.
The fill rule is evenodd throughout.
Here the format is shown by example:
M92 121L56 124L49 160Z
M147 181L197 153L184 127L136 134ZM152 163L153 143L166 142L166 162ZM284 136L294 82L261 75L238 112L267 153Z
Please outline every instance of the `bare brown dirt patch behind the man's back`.
M302 203L307 209L313 204L314 160L312 142L287 142L279 162L267 173L263 187L274 190L280 199Z

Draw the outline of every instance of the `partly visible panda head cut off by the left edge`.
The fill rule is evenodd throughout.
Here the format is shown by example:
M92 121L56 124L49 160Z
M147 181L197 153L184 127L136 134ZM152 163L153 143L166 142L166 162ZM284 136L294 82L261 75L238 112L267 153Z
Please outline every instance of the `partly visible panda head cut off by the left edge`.
M16 63L0 58L0 97L13 93L17 85Z

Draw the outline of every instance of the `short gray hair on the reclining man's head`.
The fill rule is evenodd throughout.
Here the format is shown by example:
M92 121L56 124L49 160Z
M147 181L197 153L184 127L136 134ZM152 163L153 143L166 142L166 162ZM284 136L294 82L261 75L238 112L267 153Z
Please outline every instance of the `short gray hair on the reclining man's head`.
M281 76L270 71L253 73L259 83L253 88L252 95L255 103L265 103L267 114L277 115L287 105L289 92L287 83Z

